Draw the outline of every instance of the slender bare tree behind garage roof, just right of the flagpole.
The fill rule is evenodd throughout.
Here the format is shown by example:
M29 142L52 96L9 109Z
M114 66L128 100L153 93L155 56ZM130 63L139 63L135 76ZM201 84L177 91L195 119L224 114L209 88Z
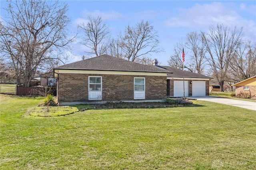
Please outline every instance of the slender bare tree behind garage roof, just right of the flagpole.
M187 34L186 47L192 51L190 63L196 73L203 74L206 67L206 47L202 34L190 32Z

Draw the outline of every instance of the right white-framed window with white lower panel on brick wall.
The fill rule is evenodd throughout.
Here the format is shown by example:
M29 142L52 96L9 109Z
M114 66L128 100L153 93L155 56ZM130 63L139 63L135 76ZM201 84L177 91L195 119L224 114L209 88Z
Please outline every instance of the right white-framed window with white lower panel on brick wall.
M134 99L145 99L144 77L134 77Z

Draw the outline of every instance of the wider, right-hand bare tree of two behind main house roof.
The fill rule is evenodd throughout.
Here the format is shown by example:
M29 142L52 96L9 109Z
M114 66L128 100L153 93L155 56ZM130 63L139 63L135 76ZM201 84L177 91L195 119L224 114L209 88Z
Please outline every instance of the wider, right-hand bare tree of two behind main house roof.
M124 53L123 57L129 61L163 51L158 44L158 32L150 22L144 20L134 27L127 26L125 32L118 36L118 45Z

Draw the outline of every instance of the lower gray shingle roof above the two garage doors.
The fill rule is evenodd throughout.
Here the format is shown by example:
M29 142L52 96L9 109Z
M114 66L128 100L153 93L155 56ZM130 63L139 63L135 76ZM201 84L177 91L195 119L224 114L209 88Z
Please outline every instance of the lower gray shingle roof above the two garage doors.
M192 73L190 71L182 71L181 69L176 69L170 66L158 66L167 69L168 71L172 72L172 74L167 74L167 77L190 77L190 78L212 78L208 77L206 75L198 74L198 73Z

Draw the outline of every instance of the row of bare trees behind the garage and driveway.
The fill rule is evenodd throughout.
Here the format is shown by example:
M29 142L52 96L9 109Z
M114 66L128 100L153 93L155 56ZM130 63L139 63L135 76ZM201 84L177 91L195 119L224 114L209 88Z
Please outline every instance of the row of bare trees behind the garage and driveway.
M223 24L210 26L208 32L190 32L184 43L176 43L168 63L181 69L185 47L184 68L213 76L224 91L225 81L233 84L256 75L256 42L244 40L242 34L242 28Z

